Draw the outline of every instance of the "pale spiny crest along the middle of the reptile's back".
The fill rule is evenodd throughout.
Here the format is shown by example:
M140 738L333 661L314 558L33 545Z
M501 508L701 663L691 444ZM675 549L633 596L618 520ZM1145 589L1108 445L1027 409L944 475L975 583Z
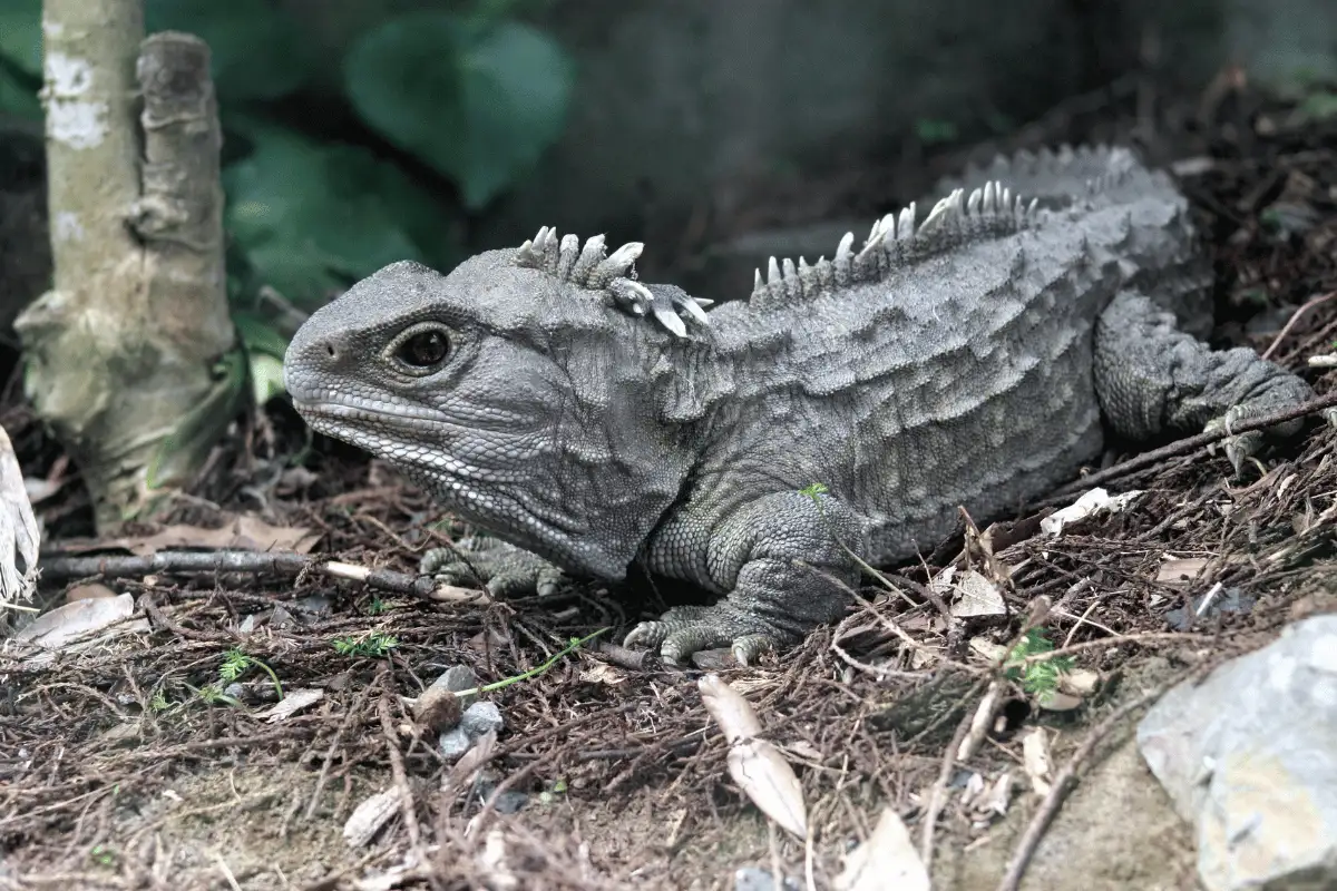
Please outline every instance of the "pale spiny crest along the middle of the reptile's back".
M919 224L912 202L900 214L888 214L874 222L858 252L854 252L854 234L845 232L832 260L822 256L809 266L800 256L796 267L790 259L777 263L771 256L765 279L757 270L751 302L787 303L837 287L877 282L894 270L983 234L1016 231L1036 215L1035 199L1027 203L1020 196L1013 198L1012 190L997 182L985 183L969 195L964 188L953 190Z

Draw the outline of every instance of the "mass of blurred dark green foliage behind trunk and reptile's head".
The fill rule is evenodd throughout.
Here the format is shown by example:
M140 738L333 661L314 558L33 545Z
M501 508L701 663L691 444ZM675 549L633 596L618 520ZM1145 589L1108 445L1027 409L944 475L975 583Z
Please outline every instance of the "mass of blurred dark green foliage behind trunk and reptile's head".
M515 5L386 12L342 57L320 57L303 23L270 0L146 0L150 32L210 45L229 295L263 365L251 363L257 395L275 387L273 362L259 357L282 358L286 346L257 309L259 287L312 310L394 260L453 266L468 214L560 136L575 65L516 21ZM41 118L40 21L41 0L0 0L0 118Z

